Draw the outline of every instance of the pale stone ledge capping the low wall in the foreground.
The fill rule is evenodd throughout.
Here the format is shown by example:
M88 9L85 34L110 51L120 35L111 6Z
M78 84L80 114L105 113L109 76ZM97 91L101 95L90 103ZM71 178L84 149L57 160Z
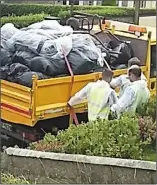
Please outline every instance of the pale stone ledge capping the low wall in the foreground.
M41 151L11 148L11 147L7 148L5 150L5 153L9 156L12 155L12 156L18 156L18 157L52 159L56 161L78 162L78 163L85 163L85 164L117 166L117 167L156 171L156 162L142 161L142 160L41 152Z

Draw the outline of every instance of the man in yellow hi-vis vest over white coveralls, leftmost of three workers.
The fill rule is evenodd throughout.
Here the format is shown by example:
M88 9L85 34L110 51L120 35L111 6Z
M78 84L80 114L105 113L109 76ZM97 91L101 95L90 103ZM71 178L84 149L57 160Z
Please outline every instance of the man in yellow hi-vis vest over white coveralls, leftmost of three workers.
M117 102L116 93L109 85L112 77L113 72L105 69L102 72L102 80L87 84L70 99L68 104L74 106L87 99L89 121L98 118L108 119L110 107Z

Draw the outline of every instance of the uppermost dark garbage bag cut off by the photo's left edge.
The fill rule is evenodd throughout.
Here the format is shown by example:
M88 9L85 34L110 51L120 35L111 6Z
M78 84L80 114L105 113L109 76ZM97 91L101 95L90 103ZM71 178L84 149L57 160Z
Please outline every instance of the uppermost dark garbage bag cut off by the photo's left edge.
M1 62L1 66L10 64L12 62L11 54L3 48L1 48L0 62Z

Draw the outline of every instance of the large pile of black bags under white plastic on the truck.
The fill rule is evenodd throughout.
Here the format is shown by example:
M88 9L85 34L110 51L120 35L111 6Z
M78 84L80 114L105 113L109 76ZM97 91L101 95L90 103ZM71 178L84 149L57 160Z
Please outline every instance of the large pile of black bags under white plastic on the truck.
M7 23L1 28L1 79L32 86L38 79L88 74L104 67L108 52L88 34L74 34L69 26L44 20L21 30Z

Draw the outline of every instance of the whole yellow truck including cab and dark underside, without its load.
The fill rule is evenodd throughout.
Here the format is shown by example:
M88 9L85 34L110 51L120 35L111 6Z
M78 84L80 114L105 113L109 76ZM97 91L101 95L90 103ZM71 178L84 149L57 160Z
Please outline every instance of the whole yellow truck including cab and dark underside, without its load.
M139 27L126 23L107 21L100 30L95 25L92 34L105 41L110 33L121 40L131 41L135 56L142 61L142 70L147 77L151 94L156 93L156 29ZM138 35L140 34L140 35ZM127 69L114 71L118 76ZM33 77L32 88L1 80L1 124L2 139L34 141L40 138L38 132L50 131L52 125L64 124L69 119L67 102L89 82L101 79L101 73L91 73L72 77L38 80ZM76 113L87 112L87 103L75 106ZM61 118L66 118L61 119ZM60 120L61 119L61 120ZM53 121L55 120L55 121ZM60 121L59 121L60 120ZM55 123L54 123L55 122ZM59 123L60 122L60 123Z

